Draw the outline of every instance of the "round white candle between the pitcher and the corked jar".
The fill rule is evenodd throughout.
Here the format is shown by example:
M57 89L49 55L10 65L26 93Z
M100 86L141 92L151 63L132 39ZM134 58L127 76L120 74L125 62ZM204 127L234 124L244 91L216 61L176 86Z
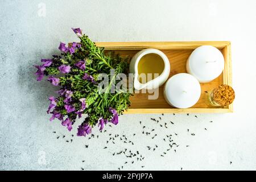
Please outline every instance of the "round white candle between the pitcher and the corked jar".
M172 76L164 85L164 98L173 107L192 107L199 100L201 86L199 81L188 73Z

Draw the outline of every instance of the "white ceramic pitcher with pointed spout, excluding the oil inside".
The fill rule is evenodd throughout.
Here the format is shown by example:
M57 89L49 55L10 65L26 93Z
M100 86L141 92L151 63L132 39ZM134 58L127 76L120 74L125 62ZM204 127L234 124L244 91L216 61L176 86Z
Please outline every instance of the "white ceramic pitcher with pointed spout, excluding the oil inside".
M156 55L159 55L162 58L164 63L164 69L163 72L158 77L146 82L145 84L142 84L141 82L139 82L138 63L144 55L150 53L155 53ZM158 64L157 60L155 64ZM151 90L163 85L170 75L170 70L171 66L168 57L162 51L159 51L158 49L154 48L143 49L142 51L137 52L130 62L130 73L134 73L134 88L137 90Z

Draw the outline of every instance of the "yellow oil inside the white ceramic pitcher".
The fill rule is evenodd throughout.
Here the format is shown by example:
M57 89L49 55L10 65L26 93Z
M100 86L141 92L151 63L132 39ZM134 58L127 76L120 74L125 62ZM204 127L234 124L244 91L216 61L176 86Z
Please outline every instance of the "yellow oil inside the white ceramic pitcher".
M138 63L139 82L144 84L161 75L163 70L164 61L162 57L155 53L148 53L147 55L144 55Z

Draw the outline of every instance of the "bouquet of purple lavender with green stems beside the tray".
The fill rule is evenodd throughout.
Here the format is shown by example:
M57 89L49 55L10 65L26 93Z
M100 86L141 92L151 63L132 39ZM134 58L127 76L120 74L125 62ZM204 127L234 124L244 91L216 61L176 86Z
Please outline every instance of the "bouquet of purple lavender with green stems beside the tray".
M96 125L100 130L108 122L117 125L118 115L130 105L131 93L126 92L127 89L111 90L118 82L118 74L127 74L129 57L120 57L113 52L106 55L104 48L97 47L80 28L72 30L80 43L73 42L68 46L60 43L61 54L42 59L42 65L35 65L38 69L35 75L38 81L47 76L52 85L60 88L57 91L59 97L49 97L47 113L52 114L49 120L57 118L71 131L76 118L88 114L77 129L77 136L86 136ZM102 73L108 83L104 88L100 85Z

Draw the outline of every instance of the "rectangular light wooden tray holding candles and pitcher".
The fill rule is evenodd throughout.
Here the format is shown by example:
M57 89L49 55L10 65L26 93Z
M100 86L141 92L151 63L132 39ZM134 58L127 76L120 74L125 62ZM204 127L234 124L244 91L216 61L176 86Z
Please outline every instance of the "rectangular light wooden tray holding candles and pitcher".
M131 106L126 113L229 113L233 112L233 105L226 107L211 107L205 104L205 91L212 90L220 84L232 86L232 63L230 42L99 42L99 47L112 50L121 56L133 56L141 49L156 48L163 51L171 63L170 77L177 73L186 73L186 62L192 51L204 45L214 46L222 52L225 68L215 80L201 84L201 97L191 108L176 109L167 104L163 96L163 86L159 88L159 98L148 100L148 93L138 93L131 97Z

